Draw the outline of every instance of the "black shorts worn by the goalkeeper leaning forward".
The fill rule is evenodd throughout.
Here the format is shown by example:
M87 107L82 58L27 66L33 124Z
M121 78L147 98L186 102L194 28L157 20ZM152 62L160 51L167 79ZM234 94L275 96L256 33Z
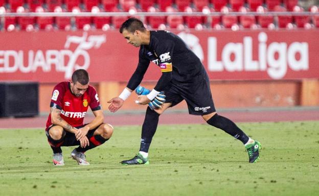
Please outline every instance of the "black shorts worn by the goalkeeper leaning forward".
M205 115L216 111L206 72L189 82L171 81L164 92L166 103L172 103L171 107L185 100L190 114Z

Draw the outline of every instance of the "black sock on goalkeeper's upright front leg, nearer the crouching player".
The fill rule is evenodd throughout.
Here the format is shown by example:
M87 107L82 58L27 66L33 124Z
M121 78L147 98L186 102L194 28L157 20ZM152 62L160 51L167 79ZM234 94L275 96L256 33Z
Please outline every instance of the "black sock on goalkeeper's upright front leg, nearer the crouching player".
M142 126L141 147L140 151L147 153L152 138L156 132L159 114L147 107L144 123Z

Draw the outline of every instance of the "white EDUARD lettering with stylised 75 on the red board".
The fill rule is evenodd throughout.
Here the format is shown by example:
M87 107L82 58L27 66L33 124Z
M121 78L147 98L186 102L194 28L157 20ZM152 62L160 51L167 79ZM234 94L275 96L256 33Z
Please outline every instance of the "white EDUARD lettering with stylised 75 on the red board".
M91 48L99 48L106 42L105 35L90 35L84 32L82 36L67 36L64 44L64 50L37 50L24 54L24 51L0 51L0 73L12 73L20 70L22 73L36 72L39 67L43 72L50 72L51 66L56 71L65 72L64 78L70 79L75 69L87 69L90 64L90 56L87 50ZM70 45L78 44L74 51L69 50ZM24 58L27 56L27 58ZM78 58L83 57L83 64L77 63ZM28 63L25 63L24 59ZM68 61L67 61L68 60Z

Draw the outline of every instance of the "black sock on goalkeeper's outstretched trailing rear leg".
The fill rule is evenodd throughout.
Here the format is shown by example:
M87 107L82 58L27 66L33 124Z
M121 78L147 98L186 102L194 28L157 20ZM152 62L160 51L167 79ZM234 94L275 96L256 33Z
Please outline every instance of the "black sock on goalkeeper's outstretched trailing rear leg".
M232 120L226 117L215 114L213 117L207 120L207 123L223 130L236 139L239 139L241 142L243 142L243 144L247 143L249 139L249 137L241 129L239 129Z

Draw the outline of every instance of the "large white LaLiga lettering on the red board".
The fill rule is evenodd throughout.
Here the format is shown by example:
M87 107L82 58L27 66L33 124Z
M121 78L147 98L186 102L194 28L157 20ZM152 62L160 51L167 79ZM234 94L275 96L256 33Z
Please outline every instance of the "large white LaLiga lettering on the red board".
M272 79L281 79L288 67L293 71L309 69L307 42L271 42L267 45L267 34L258 35L258 47L253 48L253 38L246 36L243 43L229 42L222 46L221 61L217 61L217 39L208 38L208 69L210 71L266 71ZM258 59L253 60L257 53ZM234 58L231 58L233 55Z

